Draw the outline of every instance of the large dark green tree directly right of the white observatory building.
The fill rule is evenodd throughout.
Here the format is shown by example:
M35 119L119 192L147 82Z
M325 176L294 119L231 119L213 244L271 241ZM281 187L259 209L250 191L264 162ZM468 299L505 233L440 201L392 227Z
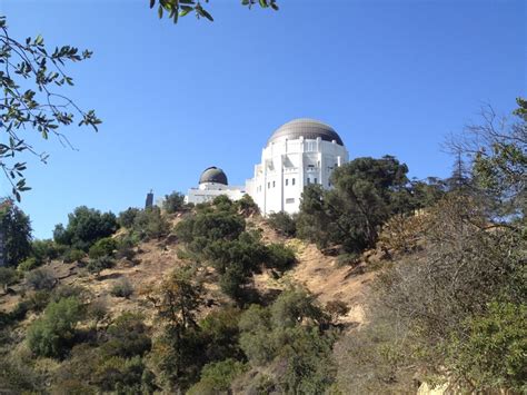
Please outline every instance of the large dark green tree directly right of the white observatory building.
M357 158L331 175L331 190L306 188L300 204L299 235L324 247L347 251L372 247L380 226L394 214L412 208L406 165L391 157Z

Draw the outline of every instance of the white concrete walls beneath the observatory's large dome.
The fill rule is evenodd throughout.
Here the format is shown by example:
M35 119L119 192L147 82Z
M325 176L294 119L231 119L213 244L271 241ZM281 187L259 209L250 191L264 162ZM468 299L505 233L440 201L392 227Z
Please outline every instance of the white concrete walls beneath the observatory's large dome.
M247 180L247 192L264 215L298 213L304 188L319 184L330 188L329 177L336 167L348 161L348 151L337 141L281 139L271 141L255 166L255 177Z

